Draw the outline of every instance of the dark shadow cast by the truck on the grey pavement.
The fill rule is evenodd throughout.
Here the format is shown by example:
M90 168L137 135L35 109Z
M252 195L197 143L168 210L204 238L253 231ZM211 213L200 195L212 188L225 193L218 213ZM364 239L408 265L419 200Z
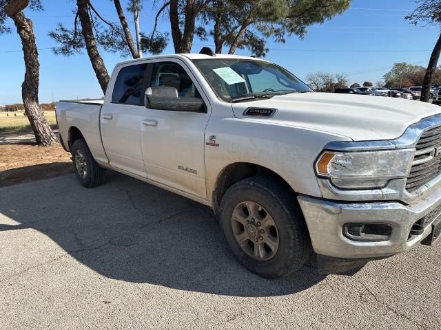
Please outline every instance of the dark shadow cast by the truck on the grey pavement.
M68 175L1 188L0 196L0 212L21 223L0 225L0 234L38 230L108 278L247 297L292 294L324 278L314 258L288 278L255 276L229 253L212 210L111 171L93 189Z

